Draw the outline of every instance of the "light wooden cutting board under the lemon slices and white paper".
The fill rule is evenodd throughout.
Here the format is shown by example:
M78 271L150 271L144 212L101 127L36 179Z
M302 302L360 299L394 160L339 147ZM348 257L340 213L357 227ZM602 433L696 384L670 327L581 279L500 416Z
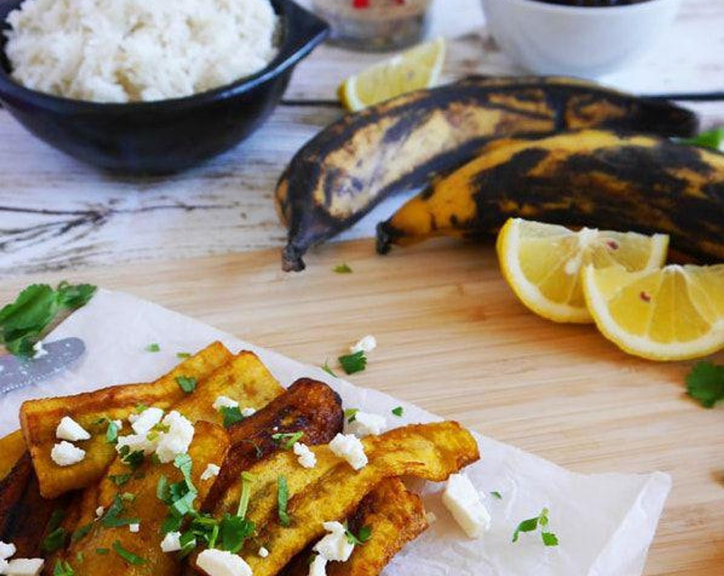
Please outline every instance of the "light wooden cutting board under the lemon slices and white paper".
M353 273L332 272L342 262ZM17 277L4 281L0 301L33 280L87 280L309 364L334 365L374 334L379 348L355 384L577 472L669 472L646 574L724 575L724 411L686 398L691 363L645 362L594 327L535 317L505 285L490 246L434 241L382 257L357 241L325 246L308 265L284 274L273 250Z

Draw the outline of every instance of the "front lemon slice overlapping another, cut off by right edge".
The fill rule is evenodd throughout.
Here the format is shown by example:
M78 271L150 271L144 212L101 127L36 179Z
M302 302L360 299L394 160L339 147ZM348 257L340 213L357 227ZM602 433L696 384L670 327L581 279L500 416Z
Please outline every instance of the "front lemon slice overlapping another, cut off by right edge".
M599 330L629 354L686 360L724 348L724 264L586 267L583 285Z

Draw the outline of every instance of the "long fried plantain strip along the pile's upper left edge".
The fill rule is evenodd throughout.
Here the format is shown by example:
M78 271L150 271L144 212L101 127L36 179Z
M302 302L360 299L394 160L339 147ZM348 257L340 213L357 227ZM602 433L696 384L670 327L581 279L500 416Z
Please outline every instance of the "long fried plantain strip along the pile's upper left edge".
M42 496L53 498L69 490L84 488L103 475L115 451L106 442L105 427L103 433L94 430L94 427L98 428L94 422L99 418L125 418L138 404L161 408L171 406L185 395L176 377L188 376L202 380L229 362L231 357L230 351L215 342L153 383L111 386L75 396L32 400L22 404L20 424L33 458ZM96 432L93 438L81 443L86 452L83 462L71 467L59 467L50 457L57 441L56 427L64 416L70 416L86 430Z

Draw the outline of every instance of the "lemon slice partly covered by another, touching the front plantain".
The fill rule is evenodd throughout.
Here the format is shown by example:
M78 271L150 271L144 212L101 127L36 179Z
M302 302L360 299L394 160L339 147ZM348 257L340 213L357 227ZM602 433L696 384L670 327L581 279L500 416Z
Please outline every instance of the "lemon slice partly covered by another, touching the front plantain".
M505 280L533 312L555 322L593 322L580 272L586 264L654 270L666 259L667 235L607 232L510 218L497 239Z

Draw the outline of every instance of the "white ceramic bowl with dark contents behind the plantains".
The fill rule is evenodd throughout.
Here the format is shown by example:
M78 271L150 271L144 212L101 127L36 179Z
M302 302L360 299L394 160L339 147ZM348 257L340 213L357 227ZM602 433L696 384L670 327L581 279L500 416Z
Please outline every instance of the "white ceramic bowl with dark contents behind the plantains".
M572 7L539 0L482 0L492 36L522 67L546 75L597 78L660 40L681 0ZM717 0L721 1L721 0Z

